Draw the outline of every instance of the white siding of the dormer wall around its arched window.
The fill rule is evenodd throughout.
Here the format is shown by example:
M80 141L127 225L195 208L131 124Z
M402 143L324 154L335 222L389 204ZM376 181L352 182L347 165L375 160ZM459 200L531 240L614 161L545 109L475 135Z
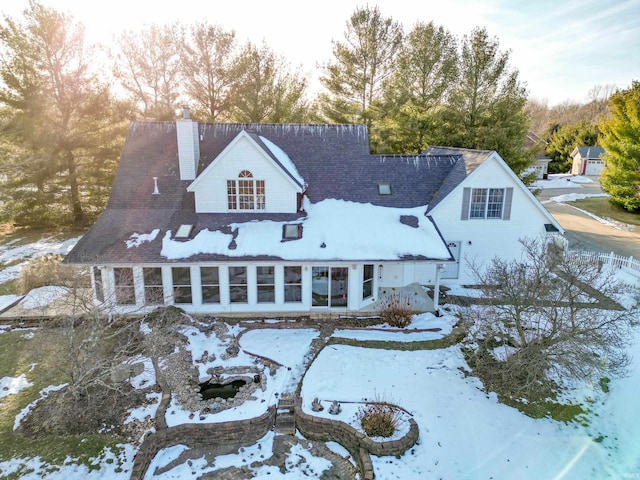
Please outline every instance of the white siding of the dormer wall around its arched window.
M227 180L235 180L241 171L248 170L255 180L264 180L265 213L295 213L297 192L291 180L273 161L266 157L253 141L242 137L232 148L205 170L195 187L196 212L219 213L229 211Z

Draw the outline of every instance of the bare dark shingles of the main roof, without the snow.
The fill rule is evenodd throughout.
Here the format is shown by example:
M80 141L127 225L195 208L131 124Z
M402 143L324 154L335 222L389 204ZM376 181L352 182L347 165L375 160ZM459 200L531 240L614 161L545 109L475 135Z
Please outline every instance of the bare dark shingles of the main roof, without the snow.
M335 198L379 206L430 205L450 192L474 163L471 151L430 150L423 155L371 155L364 125L200 124L202 172L240 132L246 131L280 164L260 137L280 147L307 184L312 203ZM455 151L453 151L455 150ZM486 156L486 155L485 155ZM464 162L460 159L464 158ZM159 195L154 195L157 177ZM166 262L162 236L181 224L224 230L255 218L250 213L196 214L190 180L180 180L175 122L134 122L129 128L106 211L67 256L67 263ZM380 195L379 183L391 185ZM261 219L292 221L298 214L259 214ZM160 229L153 241L127 249L134 232ZM197 258L193 258L197 260ZM211 256L206 259L216 260Z

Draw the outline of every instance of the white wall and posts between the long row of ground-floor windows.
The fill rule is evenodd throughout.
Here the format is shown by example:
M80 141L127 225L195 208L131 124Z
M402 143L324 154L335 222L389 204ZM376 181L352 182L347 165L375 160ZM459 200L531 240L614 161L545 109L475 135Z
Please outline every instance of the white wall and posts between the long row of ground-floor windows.
M371 264L368 262L367 264ZM164 304L176 305L189 313L269 313L269 312L314 312L314 311L358 311L367 307L371 307L376 300L377 292L380 288L380 271L379 264L374 265L373 271L373 295L369 298L363 299L363 265L362 263L269 263L269 262L253 262L253 263L236 263L236 264L202 264L202 265L189 265L189 264L171 264L171 265L144 265L144 266L108 266L102 267L102 277L104 286L104 302L98 301L95 297L94 289L94 302L97 305L103 305L106 308L112 309L117 313L144 313L146 311L156 308L158 304L148 305L145 303L144 292L144 279L143 268L161 268L162 269L162 282L164 293ZM246 303L231 303L229 297L229 270L231 266L242 266L247 268L247 302ZM275 301L268 303L261 303L258 301L257 296L257 276L256 271L258 266L273 266L275 267ZM284 301L284 267L285 266L299 266L302 271L302 300L300 302L285 302ZM348 269L348 304L346 307L314 307L312 305L312 270L314 266L328 266L337 268ZM116 285L114 277L115 268L132 268L133 281L135 286L135 304L121 305L116 301ZM173 297L173 268L187 267L190 269L191 280L191 303L176 303ZM218 267L219 282L220 282L220 302L204 304L202 302L202 280L200 277L200 267ZM402 268L401 268L402 270ZM404 275L401 275L404 278ZM95 279L92 278L92 285L95 284ZM397 285L401 286L401 285ZM160 302L158 302L160 303Z

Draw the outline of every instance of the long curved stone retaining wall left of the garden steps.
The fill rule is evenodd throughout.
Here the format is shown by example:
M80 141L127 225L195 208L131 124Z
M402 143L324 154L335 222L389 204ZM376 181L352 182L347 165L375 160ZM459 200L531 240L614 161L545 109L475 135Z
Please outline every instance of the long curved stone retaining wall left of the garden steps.
M240 446L253 445L273 427L275 406L262 415L248 420L221 423L182 424L148 434L133 462L131 480L142 480L156 453L173 445L198 447L230 447L230 452Z

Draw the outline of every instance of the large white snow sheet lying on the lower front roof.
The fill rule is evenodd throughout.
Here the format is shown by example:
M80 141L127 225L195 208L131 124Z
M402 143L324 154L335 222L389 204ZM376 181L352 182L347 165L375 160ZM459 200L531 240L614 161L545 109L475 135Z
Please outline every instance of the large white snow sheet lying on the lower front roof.
M323 200L305 204L307 216L300 239L282 241L282 227L291 222L248 221L233 223L232 231L201 230L192 240L162 239L161 255L179 260L209 254L231 258L267 256L283 260L401 260L451 257L426 207L387 208L371 204ZM409 225L404 218L414 222ZM138 237L136 237L138 238ZM232 246L231 246L232 245Z

